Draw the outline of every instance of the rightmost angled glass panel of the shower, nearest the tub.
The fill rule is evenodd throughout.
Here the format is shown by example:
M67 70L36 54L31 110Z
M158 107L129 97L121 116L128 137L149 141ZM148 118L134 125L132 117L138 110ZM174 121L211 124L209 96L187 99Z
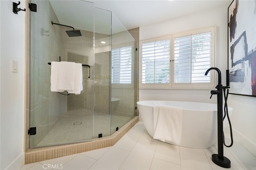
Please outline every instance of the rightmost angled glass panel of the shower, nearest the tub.
M136 115L135 69L135 40L112 14L111 134Z

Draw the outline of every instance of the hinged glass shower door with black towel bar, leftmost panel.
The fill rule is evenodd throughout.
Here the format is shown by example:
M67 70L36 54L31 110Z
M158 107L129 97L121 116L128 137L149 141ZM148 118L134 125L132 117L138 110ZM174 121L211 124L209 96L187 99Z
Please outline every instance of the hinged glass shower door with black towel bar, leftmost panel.
M94 4L80 0L31 0L30 148L90 141L94 126L94 81L83 67L80 94L51 92L51 65L60 59L94 64ZM69 12L68 12L69 11ZM70 12L71 11L71 12ZM52 24L52 22L57 24ZM63 24L66 26L60 26ZM66 31L80 30L81 36Z

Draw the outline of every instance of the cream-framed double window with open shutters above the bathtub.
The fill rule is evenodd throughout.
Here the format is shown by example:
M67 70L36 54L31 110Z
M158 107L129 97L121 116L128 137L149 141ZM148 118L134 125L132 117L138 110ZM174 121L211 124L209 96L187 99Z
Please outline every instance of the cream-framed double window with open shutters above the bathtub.
M140 41L140 88L214 88L216 26Z

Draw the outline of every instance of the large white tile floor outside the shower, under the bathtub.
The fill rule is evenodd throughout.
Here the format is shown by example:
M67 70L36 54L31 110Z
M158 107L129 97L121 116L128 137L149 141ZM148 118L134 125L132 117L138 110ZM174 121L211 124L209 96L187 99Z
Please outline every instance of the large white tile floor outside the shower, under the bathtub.
M256 158L234 144L224 148L229 170L255 170ZM239 156L236 156L236 153ZM217 146L192 149L152 139L138 122L114 146L24 165L21 170L227 170L215 165Z

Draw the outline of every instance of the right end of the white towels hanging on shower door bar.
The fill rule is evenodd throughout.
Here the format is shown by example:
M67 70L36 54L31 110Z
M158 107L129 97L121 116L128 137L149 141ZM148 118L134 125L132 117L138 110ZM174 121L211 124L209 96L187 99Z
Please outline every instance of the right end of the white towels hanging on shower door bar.
M80 94L82 90L83 90L82 64L75 63L74 90L68 90L68 93Z

